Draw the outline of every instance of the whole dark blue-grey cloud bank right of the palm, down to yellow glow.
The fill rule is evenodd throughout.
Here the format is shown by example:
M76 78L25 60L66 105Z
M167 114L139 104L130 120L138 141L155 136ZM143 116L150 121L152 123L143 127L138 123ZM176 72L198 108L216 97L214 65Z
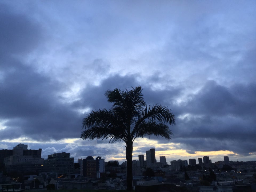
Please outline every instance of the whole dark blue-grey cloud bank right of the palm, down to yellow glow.
M256 151L256 135L252 131L255 129L255 90L254 84L225 87L207 82L189 102L180 106L185 117L177 119L174 141L185 144L190 153Z

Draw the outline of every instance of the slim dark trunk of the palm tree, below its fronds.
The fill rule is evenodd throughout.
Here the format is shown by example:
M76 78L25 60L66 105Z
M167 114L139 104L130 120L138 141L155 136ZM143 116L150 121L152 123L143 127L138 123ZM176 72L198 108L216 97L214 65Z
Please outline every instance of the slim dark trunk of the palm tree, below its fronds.
M127 191L133 190L133 143L126 143L126 161L127 161Z

